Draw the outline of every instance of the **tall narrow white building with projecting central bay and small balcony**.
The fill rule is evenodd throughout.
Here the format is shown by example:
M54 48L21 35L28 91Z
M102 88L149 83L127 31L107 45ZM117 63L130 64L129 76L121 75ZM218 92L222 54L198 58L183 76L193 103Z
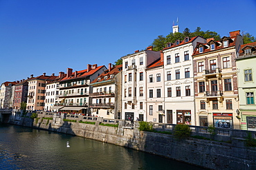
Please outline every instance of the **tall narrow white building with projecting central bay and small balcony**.
M122 119L147 121L147 66L160 58L160 52L147 50L123 56L122 59ZM143 107L141 107L141 105Z

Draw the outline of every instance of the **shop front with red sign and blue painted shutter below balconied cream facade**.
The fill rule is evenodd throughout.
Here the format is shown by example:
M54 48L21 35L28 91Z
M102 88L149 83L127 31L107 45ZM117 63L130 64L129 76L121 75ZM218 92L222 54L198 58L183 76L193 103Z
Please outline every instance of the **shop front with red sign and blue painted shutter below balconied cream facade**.
M233 129L232 113L213 113L214 127Z

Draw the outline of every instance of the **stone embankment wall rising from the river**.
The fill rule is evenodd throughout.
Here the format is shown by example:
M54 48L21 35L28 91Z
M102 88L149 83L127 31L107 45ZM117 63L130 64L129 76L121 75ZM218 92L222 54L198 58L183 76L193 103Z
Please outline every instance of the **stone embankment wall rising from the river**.
M100 118L89 120L87 117L86 121L95 121L95 125L90 125L78 123L78 121L77 123L64 122L63 115L52 116L53 120L43 119L43 117L51 116L44 115L37 120L37 123L36 119L33 121L30 118L16 116L10 120L10 123L109 142L208 169L256 169L256 148L246 147L243 138L233 138L231 142L196 138L176 140L170 134L139 131L137 122L131 128L127 127L125 121L119 120L119 126L115 128L99 125L101 122L106 122ZM82 119L82 116L76 117L73 119Z

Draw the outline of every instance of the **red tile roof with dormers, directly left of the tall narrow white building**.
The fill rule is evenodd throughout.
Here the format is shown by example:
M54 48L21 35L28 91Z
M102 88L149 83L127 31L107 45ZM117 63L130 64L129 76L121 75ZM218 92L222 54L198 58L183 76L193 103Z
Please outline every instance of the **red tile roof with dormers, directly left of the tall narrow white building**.
M109 81L109 80L113 79L116 74L121 72L121 70L122 70L122 65L116 65L116 66L112 67L110 71L105 70L104 72L102 72L102 74L100 74L100 76L95 78L95 80L92 81L91 84L98 83L98 82ZM114 75L114 76L111 78L110 75ZM105 76L107 76L107 79L104 79ZM100 78L100 80L98 81L99 78Z

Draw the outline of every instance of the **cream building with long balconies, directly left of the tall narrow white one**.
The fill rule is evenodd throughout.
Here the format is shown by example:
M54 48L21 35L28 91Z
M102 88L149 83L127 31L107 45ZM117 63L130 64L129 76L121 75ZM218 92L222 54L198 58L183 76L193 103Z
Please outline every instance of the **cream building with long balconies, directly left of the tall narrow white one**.
M109 69L95 78L90 85L93 87L93 93L90 94L91 114L103 118L121 119L122 65L112 67L109 63Z

